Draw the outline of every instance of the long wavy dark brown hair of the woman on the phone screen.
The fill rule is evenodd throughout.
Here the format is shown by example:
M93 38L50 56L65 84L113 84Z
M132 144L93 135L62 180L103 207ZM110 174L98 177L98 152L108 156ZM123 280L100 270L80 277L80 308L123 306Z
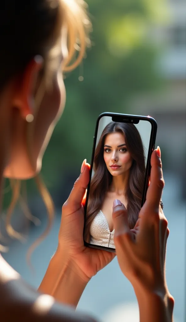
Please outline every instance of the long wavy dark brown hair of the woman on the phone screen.
M115 132L123 134L127 150L133 159L127 188L125 190L130 229L134 228L141 208L145 177L145 155L141 136L134 124L110 122L104 128L94 154L94 175L90 184L86 216L85 240L87 242L89 242L90 238L89 231L91 222L102 208L104 199L112 183L112 175L108 171L104 161L104 144L107 135Z

